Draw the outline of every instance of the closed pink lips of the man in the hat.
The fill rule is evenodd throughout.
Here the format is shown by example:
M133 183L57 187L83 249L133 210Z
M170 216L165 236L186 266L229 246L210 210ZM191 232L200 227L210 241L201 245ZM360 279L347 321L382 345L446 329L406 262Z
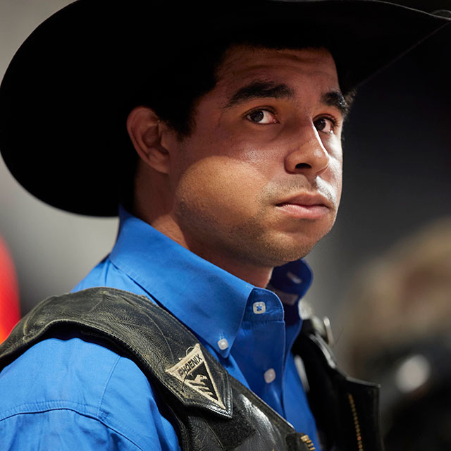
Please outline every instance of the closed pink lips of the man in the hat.
M304 219L319 219L333 208L332 202L321 194L297 194L276 206L285 214Z

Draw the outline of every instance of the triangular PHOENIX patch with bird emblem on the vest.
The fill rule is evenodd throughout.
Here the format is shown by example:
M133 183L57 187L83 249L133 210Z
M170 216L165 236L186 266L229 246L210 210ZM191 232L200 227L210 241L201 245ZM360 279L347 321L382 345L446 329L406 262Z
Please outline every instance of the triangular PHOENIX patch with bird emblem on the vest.
M180 362L171 366L171 368L166 369L166 373L188 385L197 393L206 397L207 400L214 402L221 409L226 409L219 396L216 383L211 377L209 366L206 364L199 343L188 348L186 357L180 359Z

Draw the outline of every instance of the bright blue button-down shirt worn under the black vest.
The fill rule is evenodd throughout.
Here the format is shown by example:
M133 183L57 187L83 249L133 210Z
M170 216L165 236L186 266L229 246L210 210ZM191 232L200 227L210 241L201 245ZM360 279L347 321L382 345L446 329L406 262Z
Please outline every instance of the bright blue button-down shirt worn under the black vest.
M165 307L319 450L290 353L301 326L297 302L310 283L299 260L273 271L271 290L256 288L121 210L111 254L74 290L113 287ZM1 450L180 449L140 369L75 333L39 342L6 366L0 400Z

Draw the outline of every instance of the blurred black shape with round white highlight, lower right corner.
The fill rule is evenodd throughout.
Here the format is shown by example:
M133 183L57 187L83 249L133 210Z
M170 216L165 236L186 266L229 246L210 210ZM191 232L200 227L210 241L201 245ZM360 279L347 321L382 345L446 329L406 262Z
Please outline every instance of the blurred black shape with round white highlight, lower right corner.
M411 342L373 364L383 387L386 451L451 450L450 338Z

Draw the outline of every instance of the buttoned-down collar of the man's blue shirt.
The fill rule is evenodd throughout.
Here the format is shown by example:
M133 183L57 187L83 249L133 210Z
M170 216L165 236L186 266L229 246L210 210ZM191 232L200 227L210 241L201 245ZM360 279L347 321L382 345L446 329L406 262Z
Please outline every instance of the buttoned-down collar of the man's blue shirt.
M113 264L214 349L225 338L229 346L220 354L228 357L249 296L263 289L202 259L123 208L119 218ZM311 271L299 260L273 271L271 290L296 297L288 309L297 311L297 300L310 283Z

